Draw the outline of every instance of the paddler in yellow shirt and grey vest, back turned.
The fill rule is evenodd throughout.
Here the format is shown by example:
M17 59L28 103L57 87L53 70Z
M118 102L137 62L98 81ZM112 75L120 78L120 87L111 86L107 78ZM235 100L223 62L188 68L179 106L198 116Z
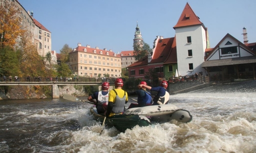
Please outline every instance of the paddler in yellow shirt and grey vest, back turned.
M108 110L105 113L106 118L111 117L115 114L122 114L124 109L124 104L128 103L127 92L122 89L123 80L117 78L115 80L115 89L111 90L109 93L109 104Z

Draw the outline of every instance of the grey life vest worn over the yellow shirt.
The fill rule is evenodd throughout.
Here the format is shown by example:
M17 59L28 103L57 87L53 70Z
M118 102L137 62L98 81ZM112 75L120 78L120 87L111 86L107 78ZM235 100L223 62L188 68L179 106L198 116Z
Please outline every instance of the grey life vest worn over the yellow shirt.
M126 99L126 95L125 95L125 91L124 91L124 96L122 98L120 98L117 95L117 92L115 89L113 89L116 93L116 100L115 103L113 104L113 109L112 112L113 113L121 113L124 111L124 104L125 104L125 99Z

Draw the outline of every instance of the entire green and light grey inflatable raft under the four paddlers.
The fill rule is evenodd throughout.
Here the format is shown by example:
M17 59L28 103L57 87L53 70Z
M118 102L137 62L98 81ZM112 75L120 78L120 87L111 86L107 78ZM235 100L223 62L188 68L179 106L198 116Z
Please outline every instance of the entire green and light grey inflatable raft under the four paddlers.
M104 116L97 113L96 108L91 108L90 113L95 120L103 122ZM192 115L187 110L178 109L175 105L152 105L127 109L121 115L106 118L105 125L115 126L120 132L132 129L134 126L148 126L151 122L169 122L175 119L180 122L190 122Z

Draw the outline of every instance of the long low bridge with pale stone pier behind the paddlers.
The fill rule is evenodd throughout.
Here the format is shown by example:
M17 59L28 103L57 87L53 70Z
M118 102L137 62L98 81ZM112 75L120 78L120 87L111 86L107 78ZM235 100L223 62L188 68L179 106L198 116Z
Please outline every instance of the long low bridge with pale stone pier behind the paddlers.
M102 82L0 82L0 86L52 86L52 98L59 98L58 86L100 86ZM114 85L114 82L110 82Z

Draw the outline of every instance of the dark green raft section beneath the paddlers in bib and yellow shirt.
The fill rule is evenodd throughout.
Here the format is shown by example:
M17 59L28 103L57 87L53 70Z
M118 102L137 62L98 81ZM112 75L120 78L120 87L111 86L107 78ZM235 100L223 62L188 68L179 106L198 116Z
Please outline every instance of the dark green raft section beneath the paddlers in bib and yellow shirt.
M93 119L103 122L104 116L97 113L96 109L91 108L90 113L93 115ZM151 125L151 121L143 115L114 115L106 118L106 126L115 126L120 132L124 132L126 129L133 129L134 126L148 126Z

